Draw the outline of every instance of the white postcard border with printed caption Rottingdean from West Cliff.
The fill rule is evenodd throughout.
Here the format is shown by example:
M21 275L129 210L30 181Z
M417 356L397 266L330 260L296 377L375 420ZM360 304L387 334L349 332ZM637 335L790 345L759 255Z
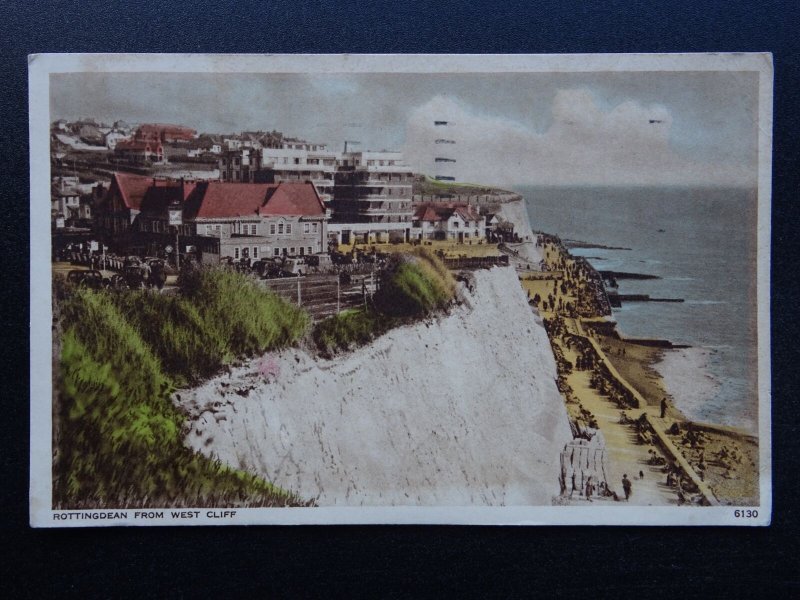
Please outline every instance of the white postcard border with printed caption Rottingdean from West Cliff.
M758 507L361 507L52 510L53 365L49 212L49 76L69 72L439 73L757 71ZM605 55L193 55L38 54L29 57L30 105L30 523L33 527L256 524L768 525L772 511L770 223L772 57L742 54ZM738 516L749 511L751 518ZM135 513L162 512L163 517ZM212 514L213 513L213 514ZM228 514L229 513L229 514Z

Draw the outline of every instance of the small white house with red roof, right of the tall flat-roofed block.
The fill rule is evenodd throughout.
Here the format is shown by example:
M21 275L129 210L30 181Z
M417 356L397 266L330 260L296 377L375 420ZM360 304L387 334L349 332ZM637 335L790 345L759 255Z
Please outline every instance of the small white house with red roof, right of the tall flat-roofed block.
M486 238L486 217L464 203L419 204L414 212L415 234L421 240L465 242Z

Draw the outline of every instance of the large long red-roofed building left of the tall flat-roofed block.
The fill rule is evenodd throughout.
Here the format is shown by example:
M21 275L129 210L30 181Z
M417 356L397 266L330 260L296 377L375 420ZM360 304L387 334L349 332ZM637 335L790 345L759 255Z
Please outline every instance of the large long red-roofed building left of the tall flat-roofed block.
M304 256L327 250L327 215L311 183L225 183L165 180L115 173L95 210L109 245L158 255L174 245L167 209L180 205L181 252L203 262L221 258Z

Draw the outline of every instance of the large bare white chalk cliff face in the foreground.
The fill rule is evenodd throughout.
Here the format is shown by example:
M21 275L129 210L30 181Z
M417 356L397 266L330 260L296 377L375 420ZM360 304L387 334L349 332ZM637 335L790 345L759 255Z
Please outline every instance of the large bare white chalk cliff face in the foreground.
M547 335L513 269L472 287L346 356L286 351L182 391L186 443L320 506L550 504L572 436Z

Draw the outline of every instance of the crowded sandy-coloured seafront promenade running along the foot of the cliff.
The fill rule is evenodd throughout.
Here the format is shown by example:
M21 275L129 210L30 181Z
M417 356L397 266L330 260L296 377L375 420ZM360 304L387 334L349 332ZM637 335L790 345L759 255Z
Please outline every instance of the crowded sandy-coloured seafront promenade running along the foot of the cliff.
M596 326L608 323L610 310L597 274L555 238L539 236L536 247L542 256L539 269L515 261L523 288L545 322L574 427L583 435L601 432L608 456L604 487L609 495L587 498L583 489L567 490L572 491L569 502L610 501L611 493L623 499L622 478L627 476L632 504L718 504L667 434L673 417L682 415L671 409L667 419L660 418L658 400L646 398L630 383L603 347Z

